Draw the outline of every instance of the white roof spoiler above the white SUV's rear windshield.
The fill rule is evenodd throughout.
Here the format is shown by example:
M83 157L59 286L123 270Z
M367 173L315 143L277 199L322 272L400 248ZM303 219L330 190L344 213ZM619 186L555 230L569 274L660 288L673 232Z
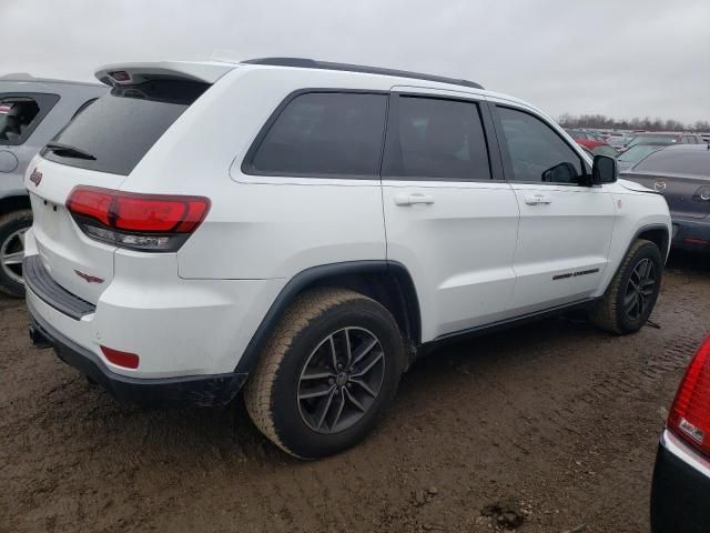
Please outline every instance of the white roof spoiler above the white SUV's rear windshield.
M133 84L156 78L214 83L235 69L235 64L219 62L160 61L151 63L115 63L101 67L95 76L106 86Z

